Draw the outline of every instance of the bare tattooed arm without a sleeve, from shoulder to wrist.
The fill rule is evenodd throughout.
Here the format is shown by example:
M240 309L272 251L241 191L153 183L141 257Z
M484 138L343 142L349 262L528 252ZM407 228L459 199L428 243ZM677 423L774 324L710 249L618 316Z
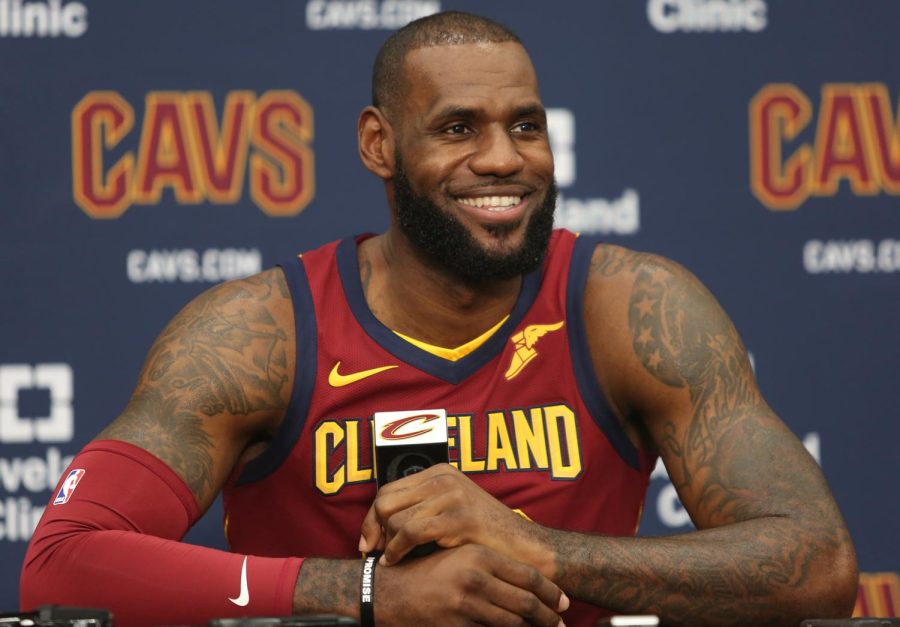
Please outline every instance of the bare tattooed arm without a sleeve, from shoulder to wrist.
M635 443L659 452L699 531L549 531L553 579L666 624L849 615L857 575L844 521L818 466L762 398L713 296L675 263L602 245L585 314L601 385Z

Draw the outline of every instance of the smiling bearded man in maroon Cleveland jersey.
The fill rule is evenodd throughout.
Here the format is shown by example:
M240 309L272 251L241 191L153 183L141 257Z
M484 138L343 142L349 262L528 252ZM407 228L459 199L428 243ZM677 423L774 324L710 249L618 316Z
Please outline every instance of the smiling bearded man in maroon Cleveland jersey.
M841 515L712 295L669 260L552 229L546 119L516 36L463 13L418 20L382 48L373 92L359 151L390 229L172 320L48 507L23 607L108 607L126 625L847 615ZM425 407L447 410L452 464L376 493L372 414ZM657 457L699 531L633 537ZM220 491L233 552L181 543Z

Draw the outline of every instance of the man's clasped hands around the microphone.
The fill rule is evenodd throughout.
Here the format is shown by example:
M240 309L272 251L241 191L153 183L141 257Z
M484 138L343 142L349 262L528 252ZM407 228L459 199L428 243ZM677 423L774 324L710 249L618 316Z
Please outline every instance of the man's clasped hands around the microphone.
M446 550L401 563L428 542ZM406 622L422 612L419 619L440 624L552 627L569 606L550 580L552 555L540 527L448 464L382 487L363 520L359 548L382 550L379 563L392 567L390 575L379 573L377 589L397 599L404 595L392 594L402 589L395 586L411 582L419 599L402 609L376 605L376 618L396 612Z

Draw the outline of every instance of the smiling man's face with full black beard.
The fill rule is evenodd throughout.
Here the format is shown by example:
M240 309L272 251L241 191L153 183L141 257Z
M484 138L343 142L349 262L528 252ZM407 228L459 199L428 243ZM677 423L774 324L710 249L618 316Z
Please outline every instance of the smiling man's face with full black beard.
M393 117L403 233L469 281L533 269L550 236L553 157L537 79L515 43L413 50Z

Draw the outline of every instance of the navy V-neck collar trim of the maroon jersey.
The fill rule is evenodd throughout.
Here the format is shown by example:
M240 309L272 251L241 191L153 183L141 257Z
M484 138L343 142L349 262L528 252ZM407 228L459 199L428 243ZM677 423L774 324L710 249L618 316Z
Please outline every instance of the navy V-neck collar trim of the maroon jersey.
M506 322L477 349L462 359L450 361L407 342L375 317L366 303L360 282L356 245L356 237L342 240L338 244L336 256L344 294L359 325L369 337L397 359L454 385L474 374L503 351L509 334L525 317L541 287L543 266L523 278L519 298Z

